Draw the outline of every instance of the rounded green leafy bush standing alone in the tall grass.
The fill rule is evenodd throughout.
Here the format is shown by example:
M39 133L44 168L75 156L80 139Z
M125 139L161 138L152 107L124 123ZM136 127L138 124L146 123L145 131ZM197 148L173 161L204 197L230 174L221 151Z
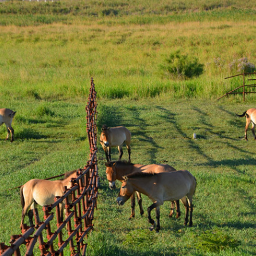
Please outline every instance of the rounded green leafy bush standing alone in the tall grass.
M182 55L180 51L170 53L164 65L160 69L173 79L189 79L200 76L204 70L204 64L200 64L196 57Z

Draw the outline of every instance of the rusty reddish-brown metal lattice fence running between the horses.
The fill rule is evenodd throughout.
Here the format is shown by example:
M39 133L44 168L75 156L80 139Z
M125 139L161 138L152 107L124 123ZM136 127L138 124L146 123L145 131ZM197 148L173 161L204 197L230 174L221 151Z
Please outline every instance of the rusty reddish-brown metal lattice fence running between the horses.
M63 196L56 197L54 204L42 207L44 220L40 220L37 209L34 209L34 225L23 224L22 234L11 235L10 246L0 243L1 256L30 256L34 255L35 250L40 250L41 256L86 255L86 238L93 228L99 184L96 157L96 91L93 79L86 111L90 160L83 169L76 170L72 187L66 189ZM72 197L72 200L69 201L68 197ZM66 210L64 220L60 218L62 202L65 203ZM21 254L21 247L25 253Z

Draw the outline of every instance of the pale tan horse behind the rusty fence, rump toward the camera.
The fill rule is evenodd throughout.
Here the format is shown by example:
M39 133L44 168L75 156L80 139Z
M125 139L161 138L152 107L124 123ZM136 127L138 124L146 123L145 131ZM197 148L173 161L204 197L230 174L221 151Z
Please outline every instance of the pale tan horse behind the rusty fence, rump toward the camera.
M62 180L29 180L21 187L21 206L22 216L21 225L24 223L24 218L28 208L29 223L33 225L33 211L37 208L37 204L44 206L53 204L56 196L63 196L65 187L72 187L71 179L76 177L76 170L65 173ZM60 204L61 219L63 219L64 203Z

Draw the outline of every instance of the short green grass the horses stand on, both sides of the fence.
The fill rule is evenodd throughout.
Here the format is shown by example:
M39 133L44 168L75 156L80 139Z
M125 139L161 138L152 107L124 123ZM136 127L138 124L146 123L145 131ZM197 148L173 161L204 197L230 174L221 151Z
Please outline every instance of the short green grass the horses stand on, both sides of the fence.
M89 149L84 102L24 103L14 118L15 141L3 141L1 127L0 240L20 234L20 195L9 188L44 179L86 164ZM26 109L33 106L31 114ZM44 107L42 107L44 106ZM159 234L149 232L145 216L129 221L130 203L118 207L118 189L110 191L106 162L99 145L100 188L94 232L88 239L91 255L254 255L255 141L243 139L245 118L236 117L250 103L201 100L99 100L98 131L124 125L131 130L131 160L139 164L167 163L188 169L197 179L193 227L169 219L170 204L161 207ZM48 109L45 115L42 109ZM22 111L23 110L23 111ZM50 113L50 114L49 114ZM196 133L196 139L193 139ZM113 159L118 150L113 149ZM123 159L127 159L124 149ZM120 188L121 183L117 183ZM151 204L143 196L143 206ZM153 218L154 217L153 212ZM27 220L27 219L26 219Z

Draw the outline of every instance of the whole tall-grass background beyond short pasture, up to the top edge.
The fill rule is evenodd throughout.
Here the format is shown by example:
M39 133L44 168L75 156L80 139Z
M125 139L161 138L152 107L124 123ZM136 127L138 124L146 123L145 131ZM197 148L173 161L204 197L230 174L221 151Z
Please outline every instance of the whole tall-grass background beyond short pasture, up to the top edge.
M1 3L0 95L81 99L91 76L99 98L216 99L241 85L239 78L224 77L241 72L243 57L256 63L253 1L147 4ZM111 8L118 14L100 14ZM178 50L204 65L201 76L177 80L162 72Z

